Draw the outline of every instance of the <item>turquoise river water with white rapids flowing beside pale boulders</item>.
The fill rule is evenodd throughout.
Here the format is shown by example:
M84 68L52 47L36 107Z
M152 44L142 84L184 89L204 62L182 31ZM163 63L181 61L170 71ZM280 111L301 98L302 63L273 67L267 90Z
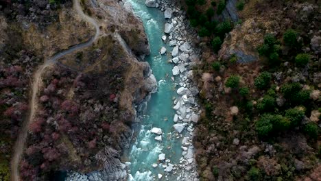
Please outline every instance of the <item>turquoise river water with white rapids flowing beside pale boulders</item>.
M164 14L156 8L147 8L145 0L128 0L136 16L139 16L145 27L145 33L150 43L150 56L146 61L158 81L157 93L152 95L148 102L147 114L141 117L141 130L137 135L135 143L130 151L130 173L129 180L148 181L158 173L164 175L164 168L158 165L153 168L154 163L158 164L158 155L165 154L165 158L171 163L178 164L182 150L181 141L176 139L173 132L174 110L172 109L172 99L176 97L176 83L171 80L171 69L173 65L168 62L170 56L161 56L161 47L166 47L167 53L171 47L165 45L161 37L164 35L165 19ZM163 130L163 141L156 141L150 130L153 128ZM162 180L165 180L163 176ZM176 180L171 178L169 180Z

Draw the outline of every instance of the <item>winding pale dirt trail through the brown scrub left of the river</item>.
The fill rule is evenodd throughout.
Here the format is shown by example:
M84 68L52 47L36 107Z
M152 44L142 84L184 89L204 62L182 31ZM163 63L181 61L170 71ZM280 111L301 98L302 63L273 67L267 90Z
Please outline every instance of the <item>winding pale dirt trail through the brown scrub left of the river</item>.
M30 123L32 123L32 120L34 119L35 112L37 110L36 95L38 93L39 87L42 82L41 75L43 74L43 72L45 71L45 69L47 67L49 67L51 64L56 63L56 61L59 58L61 58L62 56L65 56L69 53L73 53L74 51L77 51L78 49L83 49L85 47L92 45L93 42L99 36L99 33L100 33L99 25L97 24L95 19L84 14L84 12L82 11L82 8L80 6L79 0L73 0L73 8L82 17L82 19L84 19L84 21L87 21L88 23L91 23L95 26L95 30L96 30L95 36L93 36L93 38L91 38L91 40L88 40L88 42L86 42L86 43L75 45L75 46L71 47L70 49L64 50L60 53L57 53L55 56L48 58L47 60L45 60L45 62L42 65L40 65L40 67L38 67L38 69L36 70L36 73L34 73L33 82L32 82L32 95L31 95L32 97L31 97L30 103L29 103L29 106L30 106L29 116L27 117L27 119L23 123L23 125L21 127L20 134L16 140L16 144L14 145L14 155L12 156L12 162L11 162L12 181L19 181L20 180L20 176L19 176L20 164L19 163L21 160L21 156L23 155L23 150L25 149L25 142L27 140L29 125L30 125Z

